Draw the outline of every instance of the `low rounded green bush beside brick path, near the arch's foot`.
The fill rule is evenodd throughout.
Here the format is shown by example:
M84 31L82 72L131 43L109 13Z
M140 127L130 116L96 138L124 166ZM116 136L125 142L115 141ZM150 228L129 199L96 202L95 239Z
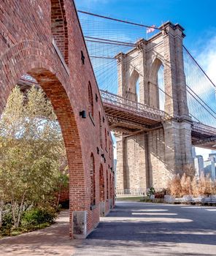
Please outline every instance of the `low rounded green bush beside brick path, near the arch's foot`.
M23 226L36 226L42 223L54 223L57 213L53 208L32 208L23 214L21 224Z

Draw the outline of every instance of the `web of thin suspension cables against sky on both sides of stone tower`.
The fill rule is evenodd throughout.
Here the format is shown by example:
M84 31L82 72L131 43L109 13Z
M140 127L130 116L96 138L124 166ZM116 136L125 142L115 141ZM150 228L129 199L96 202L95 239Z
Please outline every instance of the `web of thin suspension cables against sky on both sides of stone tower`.
M115 56L135 48L136 42L146 36L146 28L151 26L83 10L79 10L79 16L99 88L117 94ZM155 31L160 30L155 28ZM190 116L201 124L216 127L215 84L185 46L183 54ZM164 106L165 97L170 96L163 86L158 86L158 89Z

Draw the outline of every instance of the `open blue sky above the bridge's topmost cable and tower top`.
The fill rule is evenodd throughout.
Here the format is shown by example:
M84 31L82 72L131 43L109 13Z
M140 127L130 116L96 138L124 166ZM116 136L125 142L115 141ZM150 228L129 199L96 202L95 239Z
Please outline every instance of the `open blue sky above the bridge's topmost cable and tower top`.
M216 0L77 0L76 5L80 10L150 26L167 20L180 23L185 28L184 45L216 84ZM196 149L205 159L209 152Z

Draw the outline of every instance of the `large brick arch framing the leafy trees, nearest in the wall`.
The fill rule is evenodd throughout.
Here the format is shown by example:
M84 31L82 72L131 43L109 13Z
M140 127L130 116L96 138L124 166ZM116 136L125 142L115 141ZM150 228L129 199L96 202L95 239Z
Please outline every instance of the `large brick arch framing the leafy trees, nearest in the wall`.
M4 64L4 71L0 74L0 116L13 87L26 73L37 80L53 105L61 127L69 165L70 234L72 235L72 212L77 208L85 210L85 205L80 204L85 200L85 170L79 127L65 89L66 84L69 83L67 79L69 76L66 75L61 64L58 65L58 58L39 42L25 41L15 45L1 57L0 64ZM81 182L79 187L74 187L77 179ZM74 196L76 193L79 195Z

